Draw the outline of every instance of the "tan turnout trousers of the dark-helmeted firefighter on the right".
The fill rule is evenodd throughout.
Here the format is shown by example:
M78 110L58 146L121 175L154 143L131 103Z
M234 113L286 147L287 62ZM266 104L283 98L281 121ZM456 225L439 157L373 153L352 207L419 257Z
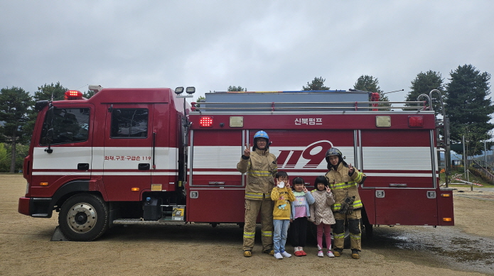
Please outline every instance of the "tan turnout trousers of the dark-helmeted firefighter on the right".
M345 246L345 219L348 219L348 230L350 231L350 248L362 250L362 233L360 231L360 219L362 218L361 210L355 210L352 214L340 214L334 212L335 226L333 226L333 248L343 250Z

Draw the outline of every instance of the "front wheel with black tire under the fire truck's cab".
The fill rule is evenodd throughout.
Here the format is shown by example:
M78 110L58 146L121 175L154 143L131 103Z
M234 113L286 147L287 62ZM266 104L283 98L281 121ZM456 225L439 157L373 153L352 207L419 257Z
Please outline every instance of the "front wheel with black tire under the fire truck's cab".
M58 225L70 241L93 241L108 229L108 206L93 194L76 194L60 208Z

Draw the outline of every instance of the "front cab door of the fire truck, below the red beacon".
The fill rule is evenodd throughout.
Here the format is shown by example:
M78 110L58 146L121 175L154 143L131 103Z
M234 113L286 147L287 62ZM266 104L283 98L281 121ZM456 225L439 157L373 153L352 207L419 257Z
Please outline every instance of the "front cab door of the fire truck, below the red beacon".
M94 106L57 104L40 116L43 126L33 134L31 197L50 197L62 184L90 180ZM53 129L51 141L49 129Z

